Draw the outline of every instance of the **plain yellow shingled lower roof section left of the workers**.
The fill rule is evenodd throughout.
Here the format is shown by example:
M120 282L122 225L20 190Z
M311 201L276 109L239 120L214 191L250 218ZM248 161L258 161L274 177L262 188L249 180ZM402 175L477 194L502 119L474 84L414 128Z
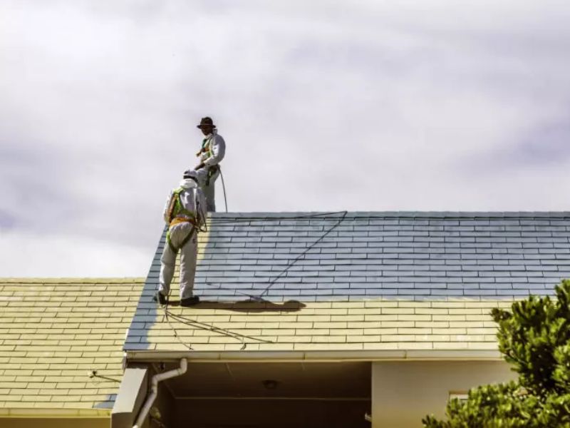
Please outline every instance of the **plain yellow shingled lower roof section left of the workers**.
M123 376L123 342L142 283L0 279L0 416L22 409L107 414Z

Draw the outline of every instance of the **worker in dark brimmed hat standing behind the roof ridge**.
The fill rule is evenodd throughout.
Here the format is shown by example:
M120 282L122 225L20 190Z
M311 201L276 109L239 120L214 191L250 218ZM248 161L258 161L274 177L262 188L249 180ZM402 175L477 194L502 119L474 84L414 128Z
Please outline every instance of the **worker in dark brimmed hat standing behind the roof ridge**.
M195 171L198 173L199 186L206 196L207 210L215 211L214 184L220 173L219 163L226 154L226 142L217 133L212 118L202 118L197 128L202 131L205 138L202 140L202 147L196 153L196 156L200 158L200 163Z

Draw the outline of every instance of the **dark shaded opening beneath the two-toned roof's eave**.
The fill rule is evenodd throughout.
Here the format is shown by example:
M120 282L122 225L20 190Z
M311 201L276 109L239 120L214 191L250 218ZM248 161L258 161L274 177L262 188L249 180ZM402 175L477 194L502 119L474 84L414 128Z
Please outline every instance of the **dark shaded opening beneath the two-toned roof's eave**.
M167 382L172 428L371 425L369 362L190 362Z

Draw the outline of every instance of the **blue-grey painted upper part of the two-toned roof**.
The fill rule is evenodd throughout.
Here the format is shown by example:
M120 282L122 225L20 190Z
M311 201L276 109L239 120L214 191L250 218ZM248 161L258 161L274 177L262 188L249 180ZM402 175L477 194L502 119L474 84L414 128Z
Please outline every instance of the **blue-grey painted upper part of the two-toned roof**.
M570 213L215 213L195 290L276 301L548 294L570 277L569 237Z

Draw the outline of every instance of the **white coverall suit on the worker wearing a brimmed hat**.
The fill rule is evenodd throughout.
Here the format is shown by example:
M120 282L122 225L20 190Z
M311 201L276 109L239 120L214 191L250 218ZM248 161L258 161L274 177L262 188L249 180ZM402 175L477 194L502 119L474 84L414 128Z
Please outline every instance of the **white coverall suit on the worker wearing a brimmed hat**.
M198 174L198 183L206 197L208 211L214 212L216 210L214 184L219 176L219 168L215 168L215 172L208 178L209 169L216 167L218 163L222 162L225 154L226 142L222 136L218 135L217 130L214 129L212 133L206 136L202 141L200 161L204 164L204 167L196 170Z

